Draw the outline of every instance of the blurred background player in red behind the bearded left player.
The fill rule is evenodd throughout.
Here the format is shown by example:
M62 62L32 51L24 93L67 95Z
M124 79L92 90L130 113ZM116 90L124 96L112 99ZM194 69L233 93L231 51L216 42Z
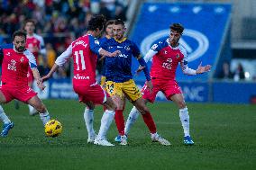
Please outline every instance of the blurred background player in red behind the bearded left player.
M29 49L32 54L34 55L36 61L39 54L43 56L46 55L46 49L44 47L44 40L35 31L35 22L32 19L26 20L24 23L24 31L27 33L27 40L26 40L26 49ZM38 63L37 63L38 64ZM29 86L32 87L33 83L33 76L32 76L32 69L29 68L28 71L28 81ZM30 115L35 115L37 111L31 106L29 106L29 113Z

